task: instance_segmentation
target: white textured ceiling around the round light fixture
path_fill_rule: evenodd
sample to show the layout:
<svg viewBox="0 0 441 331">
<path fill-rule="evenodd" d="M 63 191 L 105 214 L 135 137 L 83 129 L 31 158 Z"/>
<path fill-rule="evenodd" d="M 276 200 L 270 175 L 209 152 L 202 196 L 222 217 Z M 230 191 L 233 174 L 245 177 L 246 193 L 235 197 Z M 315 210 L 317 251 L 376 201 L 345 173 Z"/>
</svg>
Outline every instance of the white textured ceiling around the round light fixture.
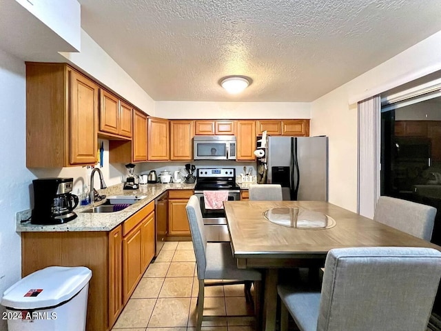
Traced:
<svg viewBox="0 0 441 331">
<path fill-rule="evenodd" d="M 313 101 L 441 30 L 438 0 L 79 0 L 156 101 Z M 253 83 L 227 94 L 222 77 Z"/>
</svg>

